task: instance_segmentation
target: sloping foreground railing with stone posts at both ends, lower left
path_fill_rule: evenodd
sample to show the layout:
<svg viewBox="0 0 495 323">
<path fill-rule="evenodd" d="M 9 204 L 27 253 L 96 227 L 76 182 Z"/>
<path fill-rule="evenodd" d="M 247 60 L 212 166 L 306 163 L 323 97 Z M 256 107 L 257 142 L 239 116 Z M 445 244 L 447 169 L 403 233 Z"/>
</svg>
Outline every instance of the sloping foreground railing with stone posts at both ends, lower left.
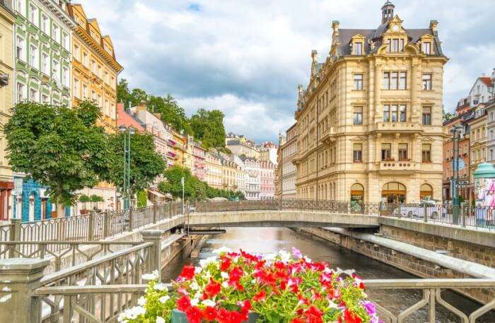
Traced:
<svg viewBox="0 0 495 323">
<path fill-rule="evenodd" d="M 164 232 L 144 230 L 141 234 L 143 240 L 137 243 L 98 242 L 102 250 L 127 246 L 100 252 L 98 257 L 87 254 L 88 261 L 50 274 L 45 274 L 50 259 L 0 259 L 0 323 L 116 322 L 118 313 L 135 304 L 144 292 L 140 288 L 146 282 L 143 274 L 157 271 L 161 276 Z M 43 251 L 44 247 L 38 254 Z"/>
</svg>

